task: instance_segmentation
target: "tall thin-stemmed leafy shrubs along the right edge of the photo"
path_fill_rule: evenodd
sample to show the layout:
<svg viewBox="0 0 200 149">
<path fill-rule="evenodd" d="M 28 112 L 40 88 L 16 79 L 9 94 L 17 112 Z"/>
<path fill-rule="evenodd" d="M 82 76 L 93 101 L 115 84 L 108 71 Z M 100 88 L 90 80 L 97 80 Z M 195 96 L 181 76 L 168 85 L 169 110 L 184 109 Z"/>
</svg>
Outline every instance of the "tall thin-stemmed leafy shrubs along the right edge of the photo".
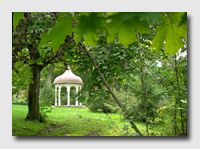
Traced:
<svg viewBox="0 0 200 149">
<path fill-rule="evenodd" d="M 185 50 L 176 55 L 163 54 L 166 61 L 158 70 L 168 95 L 167 104 L 158 110 L 159 116 L 168 119 L 171 133 L 176 135 L 187 135 L 187 57 L 182 56 Z"/>
</svg>

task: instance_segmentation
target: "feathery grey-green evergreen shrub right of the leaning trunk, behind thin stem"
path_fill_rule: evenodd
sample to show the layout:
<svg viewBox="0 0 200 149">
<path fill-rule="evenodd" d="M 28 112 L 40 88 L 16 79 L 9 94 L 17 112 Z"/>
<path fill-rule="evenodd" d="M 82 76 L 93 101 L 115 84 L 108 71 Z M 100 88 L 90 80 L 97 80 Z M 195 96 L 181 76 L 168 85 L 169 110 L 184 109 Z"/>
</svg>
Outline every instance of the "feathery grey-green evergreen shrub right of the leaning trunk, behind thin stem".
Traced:
<svg viewBox="0 0 200 149">
<path fill-rule="evenodd" d="M 158 85 L 154 84 L 150 80 L 151 77 L 149 75 L 147 76 L 145 78 L 148 79 L 145 79 L 146 83 L 144 87 L 147 100 L 147 117 L 148 119 L 152 119 L 154 121 L 154 119 L 158 116 L 156 110 L 159 108 L 159 103 L 164 100 L 165 93 L 162 88 L 159 88 Z M 143 91 L 141 90 L 141 87 L 139 87 L 141 86 L 141 83 L 135 81 L 133 86 L 134 87 L 130 88 L 137 98 L 137 101 L 128 108 L 130 115 L 132 115 L 136 121 L 145 121 L 144 102 L 142 100 Z"/>
</svg>

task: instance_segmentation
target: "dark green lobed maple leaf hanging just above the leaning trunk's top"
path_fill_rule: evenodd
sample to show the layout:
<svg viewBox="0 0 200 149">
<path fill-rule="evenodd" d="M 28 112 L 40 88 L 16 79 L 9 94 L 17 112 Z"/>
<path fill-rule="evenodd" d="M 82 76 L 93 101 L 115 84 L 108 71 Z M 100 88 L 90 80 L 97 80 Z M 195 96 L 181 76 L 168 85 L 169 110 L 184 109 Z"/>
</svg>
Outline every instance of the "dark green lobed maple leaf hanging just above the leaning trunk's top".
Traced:
<svg viewBox="0 0 200 149">
<path fill-rule="evenodd" d="M 78 24 L 75 27 L 75 42 L 78 43 L 83 36 L 86 44 L 95 47 L 96 41 L 99 39 L 97 30 L 103 30 L 105 22 L 106 18 L 98 17 L 97 13 L 79 16 Z"/>
</svg>

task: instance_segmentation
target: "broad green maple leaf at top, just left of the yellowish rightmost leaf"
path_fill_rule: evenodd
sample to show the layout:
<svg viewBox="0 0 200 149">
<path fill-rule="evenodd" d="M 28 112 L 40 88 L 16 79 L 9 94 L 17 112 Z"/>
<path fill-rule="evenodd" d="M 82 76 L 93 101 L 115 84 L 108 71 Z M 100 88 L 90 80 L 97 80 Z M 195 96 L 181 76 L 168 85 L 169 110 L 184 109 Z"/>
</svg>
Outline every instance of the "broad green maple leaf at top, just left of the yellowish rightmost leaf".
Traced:
<svg viewBox="0 0 200 149">
<path fill-rule="evenodd" d="M 149 24 L 146 21 L 140 21 L 138 15 L 129 18 L 124 13 L 117 13 L 110 19 L 112 22 L 106 26 L 108 43 L 113 41 L 119 33 L 119 42 L 128 47 L 129 44 L 137 41 L 136 30 L 141 34 L 150 32 Z"/>
</svg>

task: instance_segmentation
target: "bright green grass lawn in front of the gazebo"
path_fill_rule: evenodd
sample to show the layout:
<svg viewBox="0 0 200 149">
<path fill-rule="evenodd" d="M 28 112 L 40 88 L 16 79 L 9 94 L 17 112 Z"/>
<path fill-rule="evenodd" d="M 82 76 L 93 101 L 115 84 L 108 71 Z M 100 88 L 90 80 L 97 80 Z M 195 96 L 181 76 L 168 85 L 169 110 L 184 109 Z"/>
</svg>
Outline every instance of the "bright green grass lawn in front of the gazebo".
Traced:
<svg viewBox="0 0 200 149">
<path fill-rule="evenodd" d="M 25 121 L 28 107 L 12 105 L 13 136 L 126 136 L 136 135 L 118 114 L 93 113 L 89 109 L 53 108 L 46 123 Z M 145 123 L 136 123 L 145 135 Z M 161 135 L 165 124 L 149 125 L 151 134 Z"/>
</svg>

